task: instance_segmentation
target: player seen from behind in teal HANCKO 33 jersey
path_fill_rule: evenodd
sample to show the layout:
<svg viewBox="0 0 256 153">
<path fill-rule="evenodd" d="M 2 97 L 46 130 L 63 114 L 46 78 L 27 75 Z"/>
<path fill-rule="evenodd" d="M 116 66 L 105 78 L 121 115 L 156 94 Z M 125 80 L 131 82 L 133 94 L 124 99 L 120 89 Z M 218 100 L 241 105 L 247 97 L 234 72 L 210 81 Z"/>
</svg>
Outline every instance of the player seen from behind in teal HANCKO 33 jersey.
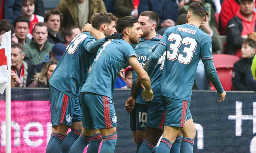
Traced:
<svg viewBox="0 0 256 153">
<path fill-rule="evenodd" d="M 198 28 L 204 21 L 205 10 L 203 3 L 193 2 L 188 9 L 188 24 L 168 28 L 149 58 L 147 72 L 150 76 L 158 59 L 166 51 L 160 91 L 165 110 L 164 134 L 156 153 L 169 153 L 180 130 L 187 134 L 183 137 L 187 143 L 183 143 L 180 151 L 193 152 L 195 126 L 192 118 L 186 119 L 200 58 L 208 78 L 221 97 L 219 102 L 226 96 L 213 65 L 212 40 Z M 185 123 L 188 128 L 183 128 Z"/>
</svg>

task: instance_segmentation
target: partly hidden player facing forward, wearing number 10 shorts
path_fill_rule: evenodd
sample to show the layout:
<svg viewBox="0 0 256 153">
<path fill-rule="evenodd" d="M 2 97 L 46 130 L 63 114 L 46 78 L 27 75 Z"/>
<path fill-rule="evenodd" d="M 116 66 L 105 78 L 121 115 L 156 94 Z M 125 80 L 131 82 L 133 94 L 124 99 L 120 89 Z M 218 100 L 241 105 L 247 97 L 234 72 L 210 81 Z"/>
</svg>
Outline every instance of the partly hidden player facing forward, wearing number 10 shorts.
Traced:
<svg viewBox="0 0 256 153">
<path fill-rule="evenodd" d="M 132 46 L 136 52 L 137 60 L 143 67 L 151 53 L 152 48 L 157 45 L 162 36 L 156 33 L 156 27 L 159 24 L 159 17 L 155 12 L 142 12 L 138 21 L 143 34 L 139 43 Z M 133 82 L 135 82 L 136 78 L 137 73 L 133 71 Z M 141 93 L 142 89 L 139 91 L 138 95 L 141 95 Z M 136 99 L 136 96 L 134 96 L 134 99 Z M 142 99 L 142 97 L 136 99 L 136 105 L 132 113 L 130 113 L 130 126 L 133 135 L 133 141 L 137 144 L 137 151 L 139 150 L 146 133 L 147 115 L 148 109 L 146 102 Z"/>
</svg>

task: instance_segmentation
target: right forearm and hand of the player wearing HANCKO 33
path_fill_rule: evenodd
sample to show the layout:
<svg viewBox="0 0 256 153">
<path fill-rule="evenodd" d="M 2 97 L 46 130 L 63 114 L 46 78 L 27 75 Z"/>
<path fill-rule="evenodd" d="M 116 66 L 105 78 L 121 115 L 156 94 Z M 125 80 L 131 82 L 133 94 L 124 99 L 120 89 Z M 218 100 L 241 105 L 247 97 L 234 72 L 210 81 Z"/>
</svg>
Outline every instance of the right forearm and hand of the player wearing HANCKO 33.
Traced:
<svg viewBox="0 0 256 153">
<path fill-rule="evenodd" d="M 202 62 L 204 63 L 204 70 L 206 72 L 207 77 L 209 78 L 209 80 L 219 93 L 219 96 L 221 97 L 219 102 L 223 101 L 226 97 L 226 92 L 224 91 L 222 85 L 220 84 L 220 79 L 214 67 L 213 60 L 202 60 Z"/>
</svg>

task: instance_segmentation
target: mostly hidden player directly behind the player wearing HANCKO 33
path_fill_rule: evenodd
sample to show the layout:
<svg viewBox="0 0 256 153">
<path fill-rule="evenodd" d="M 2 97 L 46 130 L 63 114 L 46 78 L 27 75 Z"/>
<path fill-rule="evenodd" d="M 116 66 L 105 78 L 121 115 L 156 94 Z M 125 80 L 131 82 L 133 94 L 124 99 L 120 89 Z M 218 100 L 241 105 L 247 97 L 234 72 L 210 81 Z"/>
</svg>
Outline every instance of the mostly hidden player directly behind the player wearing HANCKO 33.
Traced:
<svg viewBox="0 0 256 153">
<path fill-rule="evenodd" d="M 176 25 L 182 25 L 185 23 L 187 23 L 187 14 L 182 14 L 177 18 Z M 155 47 L 152 49 L 152 52 L 154 49 Z M 156 149 L 155 145 L 158 142 L 160 136 L 163 134 L 164 107 L 160 99 L 160 82 L 161 82 L 162 70 L 164 65 L 164 57 L 165 57 L 165 53 L 159 59 L 158 64 L 156 65 L 150 77 L 151 84 L 152 84 L 152 91 L 154 92 L 154 98 L 146 103 L 148 107 L 147 131 L 146 131 L 146 136 L 145 136 L 145 139 L 143 140 L 142 146 L 138 151 L 139 153 L 144 153 L 144 152 L 150 153 L 153 151 L 153 149 L 155 150 Z M 144 69 L 146 69 L 147 63 L 148 62 L 145 63 L 143 67 Z M 140 88 L 140 83 L 138 80 L 135 81 L 133 87 L 135 89 Z M 140 94 L 134 93 L 134 90 L 132 90 L 132 95 L 137 95 L 137 99 L 141 98 Z M 132 98 L 129 98 L 129 100 L 131 99 Z M 187 120 L 190 119 L 191 117 L 192 116 L 189 113 Z M 180 132 L 176 138 L 176 141 L 174 142 L 174 145 L 172 146 L 170 153 L 180 152 L 179 150 L 180 150 L 181 139 L 182 139 L 182 133 Z"/>
</svg>

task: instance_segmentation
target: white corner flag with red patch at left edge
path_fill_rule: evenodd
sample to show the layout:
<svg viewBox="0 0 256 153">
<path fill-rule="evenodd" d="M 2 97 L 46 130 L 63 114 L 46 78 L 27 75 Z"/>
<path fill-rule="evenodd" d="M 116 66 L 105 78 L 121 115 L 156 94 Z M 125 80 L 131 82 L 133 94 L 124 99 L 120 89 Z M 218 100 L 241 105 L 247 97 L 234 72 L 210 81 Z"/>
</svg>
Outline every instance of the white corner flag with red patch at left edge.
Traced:
<svg viewBox="0 0 256 153">
<path fill-rule="evenodd" d="M 7 66 L 12 65 L 11 58 L 11 31 L 4 33 L 0 46 L 0 93 L 3 94 L 9 83 Z"/>
</svg>

